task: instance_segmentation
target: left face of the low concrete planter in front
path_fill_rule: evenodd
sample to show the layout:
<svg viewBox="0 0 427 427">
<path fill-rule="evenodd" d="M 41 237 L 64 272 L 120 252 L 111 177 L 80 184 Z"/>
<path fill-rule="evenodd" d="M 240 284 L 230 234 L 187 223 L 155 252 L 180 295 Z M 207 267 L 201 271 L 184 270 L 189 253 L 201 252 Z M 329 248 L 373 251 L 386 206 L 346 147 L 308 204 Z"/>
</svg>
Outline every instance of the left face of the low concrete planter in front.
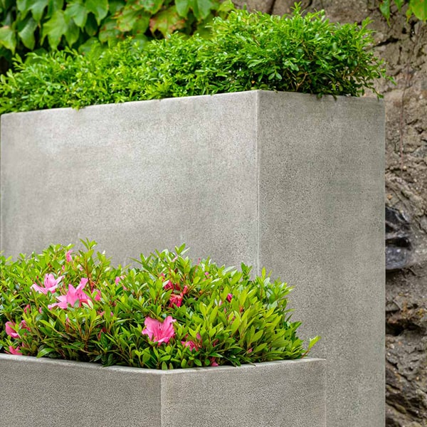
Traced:
<svg viewBox="0 0 427 427">
<path fill-rule="evenodd" d="M 162 427 L 161 381 L 139 369 L 0 354 L 0 424 Z"/>
</svg>

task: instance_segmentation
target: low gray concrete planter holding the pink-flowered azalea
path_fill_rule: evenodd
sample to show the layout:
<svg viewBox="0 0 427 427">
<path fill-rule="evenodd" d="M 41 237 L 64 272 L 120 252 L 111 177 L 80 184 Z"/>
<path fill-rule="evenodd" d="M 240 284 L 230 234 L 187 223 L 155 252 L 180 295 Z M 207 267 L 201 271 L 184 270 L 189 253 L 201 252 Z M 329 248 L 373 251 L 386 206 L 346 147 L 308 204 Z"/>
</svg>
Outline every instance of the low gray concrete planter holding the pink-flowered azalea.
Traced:
<svg viewBox="0 0 427 427">
<path fill-rule="evenodd" d="M 0 354 L 0 424 L 325 427 L 325 365 L 156 371 Z"/>
</svg>

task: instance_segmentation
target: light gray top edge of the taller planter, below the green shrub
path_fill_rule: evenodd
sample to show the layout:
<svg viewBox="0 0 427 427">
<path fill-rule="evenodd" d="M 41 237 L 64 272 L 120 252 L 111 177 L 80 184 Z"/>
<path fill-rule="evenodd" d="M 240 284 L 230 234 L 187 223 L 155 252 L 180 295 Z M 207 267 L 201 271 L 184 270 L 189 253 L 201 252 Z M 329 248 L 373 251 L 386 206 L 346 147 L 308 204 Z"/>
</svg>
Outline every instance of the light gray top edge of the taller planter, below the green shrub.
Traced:
<svg viewBox="0 0 427 427">
<path fill-rule="evenodd" d="M 311 98 L 312 100 L 317 100 L 319 102 L 331 102 L 331 101 L 343 101 L 343 102 L 375 102 L 375 103 L 383 103 L 382 99 L 379 99 L 377 97 L 347 97 L 344 95 L 339 96 L 333 96 L 333 95 L 323 95 L 322 97 L 318 98 L 315 94 L 310 93 L 297 93 L 297 92 L 278 92 L 275 90 L 248 90 L 248 91 L 242 91 L 242 92 L 231 92 L 231 93 L 217 93 L 215 95 L 194 95 L 194 96 L 188 96 L 188 97 L 169 97 L 169 98 L 163 98 L 160 100 L 143 100 L 143 101 L 129 101 L 129 102 L 117 102 L 116 104 L 97 104 L 97 105 L 89 105 L 88 107 L 83 107 L 80 110 L 75 110 L 71 107 L 60 107 L 60 108 L 51 108 L 48 110 L 32 110 L 32 111 L 24 111 L 24 112 L 8 112 L 3 115 L 1 115 L 0 119 L 1 122 L 4 122 L 5 120 L 8 120 L 8 117 L 16 117 L 16 115 L 28 115 L 28 114 L 46 114 L 46 112 L 58 112 L 58 111 L 73 111 L 75 113 L 78 113 L 80 111 L 90 111 L 90 110 L 96 110 L 99 108 L 111 108 L 113 105 L 116 105 L 117 107 L 120 107 L 122 105 L 141 105 L 142 103 L 145 103 L 145 105 L 149 105 L 148 103 L 151 102 L 159 103 L 159 102 L 194 102 L 195 100 L 206 100 L 206 98 L 209 97 L 241 97 L 241 96 L 254 96 L 254 100 L 256 99 L 256 96 L 258 94 L 263 95 L 275 95 L 275 96 L 282 96 L 282 97 L 295 97 L 295 98 Z"/>
</svg>

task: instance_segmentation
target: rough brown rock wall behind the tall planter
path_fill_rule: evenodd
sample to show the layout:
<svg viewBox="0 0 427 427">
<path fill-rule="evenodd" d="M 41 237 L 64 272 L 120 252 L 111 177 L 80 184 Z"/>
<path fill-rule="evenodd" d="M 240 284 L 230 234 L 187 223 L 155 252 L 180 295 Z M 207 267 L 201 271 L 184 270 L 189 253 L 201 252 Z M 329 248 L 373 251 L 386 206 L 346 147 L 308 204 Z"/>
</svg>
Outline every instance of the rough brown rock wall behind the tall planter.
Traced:
<svg viewBox="0 0 427 427">
<path fill-rule="evenodd" d="M 288 14 L 294 0 L 238 0 Z M 332 21 L 374 20 L 376 53 L 396 85 L 378 83 L 386 102 L 386 426 L 427 426 L 427 25 L 379 1 L 312 0 Z"/>
</svg>

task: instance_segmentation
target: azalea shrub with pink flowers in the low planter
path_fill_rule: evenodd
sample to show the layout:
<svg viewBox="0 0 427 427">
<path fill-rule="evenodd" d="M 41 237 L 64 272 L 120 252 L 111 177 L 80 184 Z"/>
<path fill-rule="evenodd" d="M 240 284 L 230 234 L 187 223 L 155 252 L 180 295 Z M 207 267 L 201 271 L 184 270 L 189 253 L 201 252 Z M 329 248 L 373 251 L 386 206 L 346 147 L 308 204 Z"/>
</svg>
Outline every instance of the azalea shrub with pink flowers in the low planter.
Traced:
<svg viewBox="0 0 427 427">
<path fill-rule="evenodd" d="M 184 246 L 113 267 L 105 253 L 50 246 L 0 257 L 0 352 L 152 369 L 304 357 L 291 288 L 265 270 L 196 263 Z"/>
</svg>

